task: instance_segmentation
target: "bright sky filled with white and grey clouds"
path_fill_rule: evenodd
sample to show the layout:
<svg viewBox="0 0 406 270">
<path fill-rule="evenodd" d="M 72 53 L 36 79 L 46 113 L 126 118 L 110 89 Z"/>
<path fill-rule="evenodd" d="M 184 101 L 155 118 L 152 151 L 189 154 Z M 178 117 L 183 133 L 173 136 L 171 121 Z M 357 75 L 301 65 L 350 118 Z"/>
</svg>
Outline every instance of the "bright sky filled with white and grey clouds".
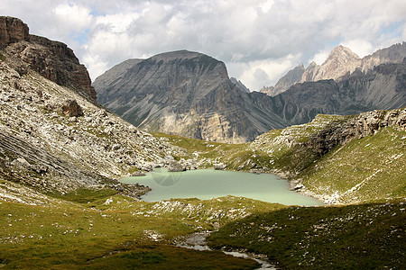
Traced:
<svg viewBox="0 0 406 270">
<path fill-rule="evenodd" d="M 339 44 L 363 57 L 406 40 L 405 0 L 2 0 L 0 15 L 68 44 L 93 80 L 127 58 L 189 49 L 251 90 Z"/>
</svg>

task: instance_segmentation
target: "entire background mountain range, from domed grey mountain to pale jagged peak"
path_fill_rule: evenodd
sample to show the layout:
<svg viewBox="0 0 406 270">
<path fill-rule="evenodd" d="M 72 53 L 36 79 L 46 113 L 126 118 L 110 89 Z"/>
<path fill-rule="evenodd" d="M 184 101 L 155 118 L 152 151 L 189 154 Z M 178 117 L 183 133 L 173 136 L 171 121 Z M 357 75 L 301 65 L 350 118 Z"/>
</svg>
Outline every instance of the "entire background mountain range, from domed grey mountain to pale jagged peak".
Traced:
<svg viewBox="0 0 406 270">
<path fill-rule="evenodd" d="M 187 50 L 127 60 L 93 85 L 100 103 L 143 130 L 238 143 L 318 113 L 405 106 L 404 56 L 405 42 L 363 59 L 338 46 L 323 65 L 288 72 L 274 96 L 250 93 L 223 62 Z"/>
</svg>

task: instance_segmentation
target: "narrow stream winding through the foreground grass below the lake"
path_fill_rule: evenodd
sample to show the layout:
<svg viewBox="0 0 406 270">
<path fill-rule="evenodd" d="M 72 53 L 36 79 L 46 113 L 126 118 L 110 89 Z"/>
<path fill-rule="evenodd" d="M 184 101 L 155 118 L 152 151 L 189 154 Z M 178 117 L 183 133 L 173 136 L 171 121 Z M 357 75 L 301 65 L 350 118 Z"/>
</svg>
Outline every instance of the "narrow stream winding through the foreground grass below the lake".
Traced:
<svg viewBox="0 0 406 270">
<path fill-rule="evenodd" d="M 200 231 L 190 234 L 187 238 L 181 238 L 175 241 L 176 247 L 186 247 L 196 250 L 211 250 L 206 243 L 206 238 L 210 234 L 210 231 Z M 223 251 L 226 255 L 231 255 L 234 257 L 245 257 L 256 261 L 261 265 L 258 269 L 277 269 L 275 266 L 271 265 L 266 261 L 265 256 L 254 255 L 250 253 L 243 253 L 238 251 Z"/>
</svg>

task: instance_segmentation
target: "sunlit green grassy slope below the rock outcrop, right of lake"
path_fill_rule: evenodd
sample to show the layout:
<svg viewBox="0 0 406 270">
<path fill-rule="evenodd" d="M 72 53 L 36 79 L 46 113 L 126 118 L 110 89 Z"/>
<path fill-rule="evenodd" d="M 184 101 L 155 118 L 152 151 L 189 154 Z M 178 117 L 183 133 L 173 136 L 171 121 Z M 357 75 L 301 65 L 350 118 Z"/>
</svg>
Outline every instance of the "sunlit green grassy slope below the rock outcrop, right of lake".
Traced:
<svg viewBox="0 0 406 270">
<path fill-rule="evenodd" d="M 341 202 L 405 197 L 405 138 L 405 131 L 384 128 L 374 136 L 353 139 L 328 152 L 298 178 L 311 192 L 336 193 Z"/>
</svg>

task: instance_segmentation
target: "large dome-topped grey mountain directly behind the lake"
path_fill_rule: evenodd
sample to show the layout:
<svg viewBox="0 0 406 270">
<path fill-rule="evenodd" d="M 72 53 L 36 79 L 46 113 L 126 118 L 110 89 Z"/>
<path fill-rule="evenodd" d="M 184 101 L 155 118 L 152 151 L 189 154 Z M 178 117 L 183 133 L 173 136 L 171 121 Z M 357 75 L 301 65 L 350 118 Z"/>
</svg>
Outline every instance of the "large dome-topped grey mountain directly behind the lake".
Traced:
<svg viewBox="0 0 406 270">
<path fill-rule="evenodd" d="M 235 143 L 286 124 L 230 81 L 223 62 L 197 52 L 127 61 L 93 85 L 100 103 L 148 131 Z"/>
</svg>

